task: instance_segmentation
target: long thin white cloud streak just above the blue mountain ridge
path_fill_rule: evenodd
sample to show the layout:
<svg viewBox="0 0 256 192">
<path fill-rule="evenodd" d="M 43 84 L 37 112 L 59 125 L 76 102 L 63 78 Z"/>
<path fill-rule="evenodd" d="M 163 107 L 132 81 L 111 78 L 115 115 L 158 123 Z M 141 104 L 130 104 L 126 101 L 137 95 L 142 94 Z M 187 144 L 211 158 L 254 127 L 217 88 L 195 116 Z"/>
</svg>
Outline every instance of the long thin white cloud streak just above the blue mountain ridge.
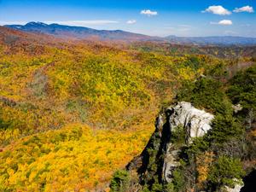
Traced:
<svg viewBox="0 0 256 192">
<path fill-rule="evenodd" d="M 47 20 L 44 23 L 52 24 L 57 23 L 60 25 L 67 25 L 67 26 L 91 26 L 91 25 L 108 25 L 108 24 L 115 24 L 119 23 L 116 20 Z"/>
</svg>

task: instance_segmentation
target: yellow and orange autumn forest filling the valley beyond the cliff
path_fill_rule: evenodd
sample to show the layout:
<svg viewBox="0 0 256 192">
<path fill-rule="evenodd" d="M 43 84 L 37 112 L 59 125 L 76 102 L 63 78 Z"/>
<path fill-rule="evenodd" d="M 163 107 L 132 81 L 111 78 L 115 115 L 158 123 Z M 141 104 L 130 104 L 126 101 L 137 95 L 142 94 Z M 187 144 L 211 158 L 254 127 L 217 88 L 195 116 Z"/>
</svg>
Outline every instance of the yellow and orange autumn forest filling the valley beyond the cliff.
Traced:
<svg viewBox="0 0 256 192">
<path fill-rule="evenodd" d="M 0 191 L 6 192 L 108 188 L 113 172 L 142 152 L 155 115 L 184 82 L 208 72 L 224 80 L 233 76 L 230 68 L 252 61 L 118 49 L 4 27 L 0 32 Z M 236 81 L 229 107 L 230 100 L 250 101 L 237 98 Z M 195 99 L 189 91 L 180 96 Z M 207 109 L 230 113 L 218 107 Z"/>
</svg>

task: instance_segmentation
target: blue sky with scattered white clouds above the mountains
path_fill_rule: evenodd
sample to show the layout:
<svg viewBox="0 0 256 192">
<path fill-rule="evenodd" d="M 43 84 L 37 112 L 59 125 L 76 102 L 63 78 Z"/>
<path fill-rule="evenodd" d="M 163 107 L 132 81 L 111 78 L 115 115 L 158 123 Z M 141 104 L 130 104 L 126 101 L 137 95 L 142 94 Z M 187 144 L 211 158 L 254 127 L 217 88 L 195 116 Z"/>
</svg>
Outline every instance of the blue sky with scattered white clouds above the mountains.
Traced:
<svg viewBox="0 0 256 192">
<path fill-rule="evenodd" d="M 255 0 L 0 0 L 0 25 L 55 22 L 155 36 L 256 38 Z"/>
</svg>

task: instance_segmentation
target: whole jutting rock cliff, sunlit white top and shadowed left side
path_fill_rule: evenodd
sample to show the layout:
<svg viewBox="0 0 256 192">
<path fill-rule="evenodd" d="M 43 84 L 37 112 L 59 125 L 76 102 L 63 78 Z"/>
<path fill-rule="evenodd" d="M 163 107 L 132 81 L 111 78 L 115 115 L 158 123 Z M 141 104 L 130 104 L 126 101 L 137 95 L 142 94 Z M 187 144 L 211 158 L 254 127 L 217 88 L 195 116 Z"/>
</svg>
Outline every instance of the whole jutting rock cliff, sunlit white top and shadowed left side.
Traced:
<svg viewBox="0 0 256 192">
<path fill-rule="evenodd" d="M 202 137 L 211 130 L 214 116 L 192 106 L 189 102 L 177 102 L 166 108 L 155 121 L 155 131 L 143 153 L 127 166 L 128 170 L 137 169 L 143 183 L 153 181 L 172 182 L 172 172 L 179 166 L 180 148 L 172 143 L 173 131 L 182 127 L 185 143 L 192 138 Z"/>
</svg>

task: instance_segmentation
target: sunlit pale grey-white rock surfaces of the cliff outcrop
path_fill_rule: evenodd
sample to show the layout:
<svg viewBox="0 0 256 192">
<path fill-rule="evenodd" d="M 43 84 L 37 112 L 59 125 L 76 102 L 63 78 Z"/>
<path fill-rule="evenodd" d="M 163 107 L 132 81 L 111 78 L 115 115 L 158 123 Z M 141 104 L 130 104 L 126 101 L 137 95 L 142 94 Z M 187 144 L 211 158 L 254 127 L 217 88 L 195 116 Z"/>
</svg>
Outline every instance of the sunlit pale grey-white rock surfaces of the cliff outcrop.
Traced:
<svg viewBox="0 0 256 192">
<path fill-rule="evenodd" d="M 192 138 L 202 137 L 211 130 L 211 122 L 214 116 L 203 110 L 194 108 L 189 102 L 178 102 L 177 105 L 167 108 L 170 112 L 168 117 L 170 131 L 175 131 L 177 126 L 182 126 L 186 132 L 186 142 L 191 143 Z M 171 136 L 172 137 L 172 136 Z M 166 155 L 163 164 L 163 180 L 167 183 L 172 181 L 172 172 L 179 166 L 178 152 L 173 143 L 166 143 Z"/>
</svg>

